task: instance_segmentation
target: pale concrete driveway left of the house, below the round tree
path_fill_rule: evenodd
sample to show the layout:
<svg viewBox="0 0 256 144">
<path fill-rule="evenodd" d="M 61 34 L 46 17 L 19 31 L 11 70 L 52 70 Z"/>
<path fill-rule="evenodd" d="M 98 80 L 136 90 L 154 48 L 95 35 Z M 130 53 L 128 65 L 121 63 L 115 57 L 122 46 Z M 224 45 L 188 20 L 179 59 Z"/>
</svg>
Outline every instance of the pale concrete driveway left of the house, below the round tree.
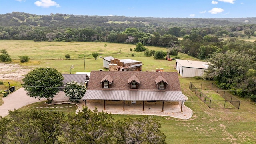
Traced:
<svg viewBox="0 0 256 144">
<path fill-rule="evenodd" d="M 14 110 L 21 108 L 22 106 L 26 106 L 28 104 L 32 104 L 35 102 L 46 101 L 46 99 L 41 98 L 31 98 L 27 95 L 26 91 L 23 88 L 19 88 L 18 90 L 8 94 L 8 96 L 3 98 L 4 104 L 0 106 L 0 116 L 7 116 L 9 110 Z"/>
</svg>

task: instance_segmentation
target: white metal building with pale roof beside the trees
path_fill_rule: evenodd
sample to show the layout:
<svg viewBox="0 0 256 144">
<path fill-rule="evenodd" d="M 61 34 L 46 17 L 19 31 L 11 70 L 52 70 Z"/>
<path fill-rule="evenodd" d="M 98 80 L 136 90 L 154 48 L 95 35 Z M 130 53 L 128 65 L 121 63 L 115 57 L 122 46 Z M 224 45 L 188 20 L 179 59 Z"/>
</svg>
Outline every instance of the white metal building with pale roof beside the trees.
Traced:
<svg viewBox="0 0 256 144">
<path fill-rule="evenodd" d="M 202 76 L 208 68 L 207 62 L 176 59 L 175 69 L 182 77 Z"/>
</svg>

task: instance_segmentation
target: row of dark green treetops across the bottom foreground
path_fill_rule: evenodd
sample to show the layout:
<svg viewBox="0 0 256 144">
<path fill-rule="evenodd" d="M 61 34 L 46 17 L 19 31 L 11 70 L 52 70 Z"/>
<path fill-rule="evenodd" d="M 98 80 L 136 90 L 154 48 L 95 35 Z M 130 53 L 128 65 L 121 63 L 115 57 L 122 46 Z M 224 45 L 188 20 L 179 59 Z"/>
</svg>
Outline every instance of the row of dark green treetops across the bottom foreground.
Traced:
<svg viewBox="0 0 256 144">
<path fill-rule="evenodd" d="M 52 110 L 14 110 L 0 117 L 2 144 L 166 144 L 155 118 L 115 121 L 111 114 L 82 108 L 64 115 Z"/>
</svg>

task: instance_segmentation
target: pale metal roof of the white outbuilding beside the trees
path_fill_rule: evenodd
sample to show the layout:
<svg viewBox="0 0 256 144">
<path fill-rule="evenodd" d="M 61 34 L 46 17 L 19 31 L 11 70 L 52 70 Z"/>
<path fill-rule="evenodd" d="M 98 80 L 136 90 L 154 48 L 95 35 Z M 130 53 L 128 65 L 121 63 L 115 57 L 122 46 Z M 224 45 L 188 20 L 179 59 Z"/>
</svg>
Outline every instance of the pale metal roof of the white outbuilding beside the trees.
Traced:
<svg viewBox="0 0 256 144">
<path fill-rule="evenodd" d="M 176 59 L 176 62 L 178 62 L 182 67 L 187 67 L 187 68 L 207 69 L 208 67 L 207 62 L 202 62 L 202 61 Z"/>
</svg>

